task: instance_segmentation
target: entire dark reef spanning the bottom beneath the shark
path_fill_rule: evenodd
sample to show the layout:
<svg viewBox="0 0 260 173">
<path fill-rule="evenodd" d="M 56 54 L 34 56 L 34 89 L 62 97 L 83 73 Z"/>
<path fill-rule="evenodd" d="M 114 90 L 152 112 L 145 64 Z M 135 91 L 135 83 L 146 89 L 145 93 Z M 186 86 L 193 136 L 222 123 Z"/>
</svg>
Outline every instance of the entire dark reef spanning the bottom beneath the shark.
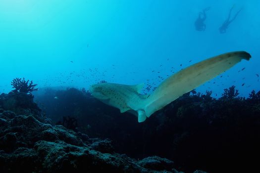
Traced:
<svg viewBox="0 0 260 173">
<path fill-rule="evenodd" d="M 35 98 L 0 95 L 0 172 L 258 169 L 260 92 L 239 97 L 232 86 L 215 99 L 211 91 L 191 91 L 145 123 L 98 101 L 86 89 L 37 92 Z"/>
</svg>

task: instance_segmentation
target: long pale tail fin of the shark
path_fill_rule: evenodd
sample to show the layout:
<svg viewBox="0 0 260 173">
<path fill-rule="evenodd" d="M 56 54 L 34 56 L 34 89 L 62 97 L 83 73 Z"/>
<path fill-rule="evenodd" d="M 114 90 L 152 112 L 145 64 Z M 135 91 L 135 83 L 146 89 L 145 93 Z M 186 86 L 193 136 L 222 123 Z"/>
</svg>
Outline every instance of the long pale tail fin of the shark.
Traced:
<svg viewBox="0 0 260 173">
<path fill-rule="evenodd" d="M 208 58 L 170 76 L 145 99 L 144 111 L 146 116 L 150 117 L 157 110 L 184 93 L 225 72 L 242 59 L 249 60 L 250 58 L 251 55 L 245 51 L 229 52 Z"/>
</svg>

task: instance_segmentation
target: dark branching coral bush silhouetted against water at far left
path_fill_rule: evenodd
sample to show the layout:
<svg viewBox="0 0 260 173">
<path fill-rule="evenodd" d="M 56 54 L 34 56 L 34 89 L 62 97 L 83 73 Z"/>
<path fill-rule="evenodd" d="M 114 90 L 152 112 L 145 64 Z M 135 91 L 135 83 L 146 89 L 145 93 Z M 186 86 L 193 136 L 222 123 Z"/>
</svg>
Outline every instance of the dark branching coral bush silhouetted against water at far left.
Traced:
<svg viewBox="0 0 260 173">
<path fill-rule="evenodd" d="M 33 81 L 29 83 L 29 80 L 25 81 L 25 79 L 21 78 L 15 78 L 12 80 L 11 85 L 13 86 L 14 90 L 12 90 L 15 93 L 26 93 L 31 94 L 32 91 L 38 90 L 38 88 L 35 88 L 37 84 L 33 84 Z"/>
</svg>

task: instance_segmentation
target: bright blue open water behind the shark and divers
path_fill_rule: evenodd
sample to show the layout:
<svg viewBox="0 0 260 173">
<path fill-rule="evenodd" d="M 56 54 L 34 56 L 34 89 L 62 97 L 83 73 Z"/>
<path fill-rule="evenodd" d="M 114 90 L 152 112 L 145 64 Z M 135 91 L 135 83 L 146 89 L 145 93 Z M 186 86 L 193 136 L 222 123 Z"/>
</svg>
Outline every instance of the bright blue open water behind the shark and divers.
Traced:
<svg viewBox="0 0 260 173">
<path fill-rule="evenodd" d="M 220 34 L 232 6 L 232 15 L 243 9 Z M 206 7 L 207 28 L 199 32 L 194 22 Z M 260 89 L 259 9 L 260 0 L 0 0 L 0 93 L 16 77 L 38 87 L 101 80 L 156 87 L 193 63 L 245 50 L 250 61 L 196 90 L 218 97 L 235 85 L 247 97 Z"/>
</svg>

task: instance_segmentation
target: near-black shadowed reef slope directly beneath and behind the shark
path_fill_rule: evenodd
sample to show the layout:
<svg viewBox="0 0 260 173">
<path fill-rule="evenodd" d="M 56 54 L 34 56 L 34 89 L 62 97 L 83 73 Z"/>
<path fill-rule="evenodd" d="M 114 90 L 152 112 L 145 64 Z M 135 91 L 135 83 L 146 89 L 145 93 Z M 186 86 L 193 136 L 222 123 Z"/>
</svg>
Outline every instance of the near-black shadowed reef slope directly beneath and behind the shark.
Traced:
<svg viewBox="0 0 260 173">
<path fill-rule="evenodd" d="M 212 98 L 211 93 L 184 94 L 145 123 L 137 123 L 135 116 L 121 114 L 77 89 L 57 91 L 60 100 L 47 96 L 40 100 L 43 104 L 53 100 L 47 115 L 56 115 L 56 120 L 73 116 L 78 131 L 92 138 L 109 138 L 113 149 L 105 142 L 107 152 L 136 159 L 156 155 L 173 160 L 176 169 L 187 173 L 257 169 L 260 92 L 252 91 L 247 99 L 237 97 L 234 86 L 225 89 L 220 99 Z"/>
</svg>

